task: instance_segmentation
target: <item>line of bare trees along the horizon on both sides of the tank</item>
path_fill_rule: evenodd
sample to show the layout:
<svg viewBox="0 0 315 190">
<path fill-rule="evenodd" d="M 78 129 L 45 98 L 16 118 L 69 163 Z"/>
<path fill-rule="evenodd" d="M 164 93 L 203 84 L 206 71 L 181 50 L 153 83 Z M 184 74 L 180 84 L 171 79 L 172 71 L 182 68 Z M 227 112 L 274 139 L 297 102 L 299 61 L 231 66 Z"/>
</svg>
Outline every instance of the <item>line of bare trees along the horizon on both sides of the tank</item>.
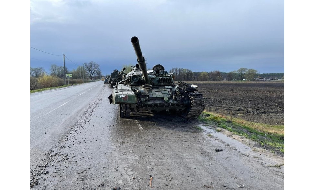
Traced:
<svg viewBox="0 0 315 190">
<path fill-rule="evenodd" d="M 125 73 L 130 72 L 132 66 L 123 65 L 126 68 Z M 78 66 L 77 69 L 69 71 L 67 67 L 57 66 L 52 64 L 49 68 L 50 75 L 64 79 L 64 73 L 72 73 L 72 79 L 87 79 L 90 80 L 100 79 L 103 74 L 100 71 L 100 66 L 96 62 L 84 62 L 83 66 Z M 45 70 L 40 68 L 31 68 L 31 77 L 40 77 L 43 74 L 47 74 Z M 257 77 L 264 78 L 284 78 L 284 73 L 258 73 L 255 69 L 250 68 L 239 68 L 238 70 L 231 71 L 229 73 L 220 72 L 218 70 L 211 72 L 192 72 L 190 69 L 186 68 L 171 68 L 169 73 L 173 73 L 175 81 L 237 81 L 246 79 L 248 81 L 254 81 Z M 109 77 L 109 76 L 106 76 Z"/>
</svg>

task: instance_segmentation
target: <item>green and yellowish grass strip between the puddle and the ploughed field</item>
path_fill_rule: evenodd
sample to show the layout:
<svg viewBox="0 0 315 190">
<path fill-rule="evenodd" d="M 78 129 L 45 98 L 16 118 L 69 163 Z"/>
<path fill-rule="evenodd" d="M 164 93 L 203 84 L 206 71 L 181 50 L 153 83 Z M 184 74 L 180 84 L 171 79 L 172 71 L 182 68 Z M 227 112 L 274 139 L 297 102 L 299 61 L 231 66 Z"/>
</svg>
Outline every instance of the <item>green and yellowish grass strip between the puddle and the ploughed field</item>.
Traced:
<svg viewBox="0 0 315 190">
<path fill-rule="evenodd" d="M 259 143 L 265 149 L 284 155 L 284 125 L 248 122 L 206 111 L 199 116 L 199 121 L 224 128 Z"/>
</svg>

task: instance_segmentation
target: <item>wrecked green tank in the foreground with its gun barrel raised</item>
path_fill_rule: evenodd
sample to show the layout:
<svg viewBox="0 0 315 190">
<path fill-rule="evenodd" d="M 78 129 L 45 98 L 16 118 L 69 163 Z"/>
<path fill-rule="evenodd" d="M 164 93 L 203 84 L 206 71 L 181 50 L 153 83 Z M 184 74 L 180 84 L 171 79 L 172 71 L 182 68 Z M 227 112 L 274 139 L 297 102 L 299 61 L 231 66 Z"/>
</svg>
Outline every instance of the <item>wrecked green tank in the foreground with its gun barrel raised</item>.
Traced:
<svg viewBox="0 0 315 190">
<path fill-rule="evenodd" d="M 198 86 L 182 81 L 174 82 L 173 73 L 160 64 L 147 70 L 139 39 L 131 38 L 138 64 L 114 86 L 108 97 L 119 105 L 119 117 L 130 117 L 130 112 L 167 111 L 187 119 L 196 119 L 204 109 L 203 95 Z"/>
</svg>

